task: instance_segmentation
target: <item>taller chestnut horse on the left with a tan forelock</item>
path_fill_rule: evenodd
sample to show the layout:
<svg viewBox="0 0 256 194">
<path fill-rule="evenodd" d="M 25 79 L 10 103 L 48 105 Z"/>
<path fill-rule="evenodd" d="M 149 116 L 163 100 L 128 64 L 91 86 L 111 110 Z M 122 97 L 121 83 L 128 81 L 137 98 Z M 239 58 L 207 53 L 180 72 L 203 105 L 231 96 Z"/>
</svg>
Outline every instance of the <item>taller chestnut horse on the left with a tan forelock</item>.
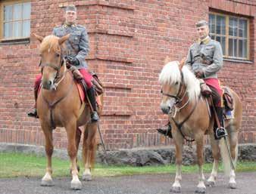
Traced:
<svg viewBox="0 0 256 194">
<path fill-rule="evenodd" d="M 47 168 L 42 177 L 42 186 L 52 186 L 52 128 L 64 127 L 67 132 L 67 152 L 70 156 L 70 173 L 72 174 L 71 189 L 81 189 L 78 178 L 77 150 L 81 131 L 78 127 L 84 125 L 83 162 L 85 171 L 83 180 L 91 180 L 91 168 L 95 158 L 97 122 L 90 122 L 90 108 L 83 109 L 80 94 L 72 73 L 67 70 L 64 59 L 64 42 L 69 35 L 58 38 L 48 35 L 42 38 L 35 35 L 41 42 L 42 88 L 36 102 L 40 124 L 45 134 L 45 152 Z M 102 96 L 100 97 L 103 103 Z M 101 107 L 102 108 L 102 107 Z M 101 112 L 101 109 L 99 110 Z M 54 126 L 54 127 L 53 127 Z"/>
</svg>

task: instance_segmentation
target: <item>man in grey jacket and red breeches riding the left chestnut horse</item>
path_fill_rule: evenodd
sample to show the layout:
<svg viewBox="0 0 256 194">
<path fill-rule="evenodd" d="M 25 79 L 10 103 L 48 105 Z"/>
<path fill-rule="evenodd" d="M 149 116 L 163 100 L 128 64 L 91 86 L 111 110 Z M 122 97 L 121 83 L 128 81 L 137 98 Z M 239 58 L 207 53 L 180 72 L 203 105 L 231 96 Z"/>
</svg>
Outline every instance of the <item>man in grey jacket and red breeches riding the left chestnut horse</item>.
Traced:
<svg viewBox="0 0 256 194">
<path fill-rule="evenodd" d="M 57 26 L 53 29 L 52 34 L 58 37 L 70 34 L 66 43 L 66 56 L 67 63 L 71 66 L 75 66 L 83 76 L 83 80 L 86 82 L 86 92 L 89 97 L 89 101 L 92 104 L 92 122 L 98 121 L 98 113 L 96 112 L 95 91 L 92 87 L 92 75 L 88 72 L 88 66 L 85 57 L 89 53 L 89 38 L 86 32 L 86 28 L 76 24 L 76 7 L 74 5 L 68 5 L 65 11 L 65 23 L 62 26 Z M 37 92 L 41 83 L 42 75 L 36 76 L 36 82 L 34 87 L 35 98 L 37 99 Z M 33 112 L 28 113 L 29 116 L 37 118 L 36 109 Z"/>
</svg>

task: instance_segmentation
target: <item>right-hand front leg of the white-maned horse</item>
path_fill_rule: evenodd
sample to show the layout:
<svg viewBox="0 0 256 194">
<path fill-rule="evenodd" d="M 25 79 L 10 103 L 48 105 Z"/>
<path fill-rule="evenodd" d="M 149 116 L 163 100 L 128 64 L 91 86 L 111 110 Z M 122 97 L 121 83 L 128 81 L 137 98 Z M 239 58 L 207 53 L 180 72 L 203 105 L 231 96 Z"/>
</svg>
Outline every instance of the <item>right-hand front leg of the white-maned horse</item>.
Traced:
<svg viewBox="0 0 256 194">
<path fill-rule="evenodd" d="M 198 168 L 199 168 L 199 183 L 195 190 L 196 193 L 205 193 L 206 187 L 204 185 L 204 174 L 203 174 L 203 163 L 204 163 L 204 136 L 203 134 L 198 134 L 198 138 L 196 138 L 196 152 L 198 156 Z"/>
</svg>

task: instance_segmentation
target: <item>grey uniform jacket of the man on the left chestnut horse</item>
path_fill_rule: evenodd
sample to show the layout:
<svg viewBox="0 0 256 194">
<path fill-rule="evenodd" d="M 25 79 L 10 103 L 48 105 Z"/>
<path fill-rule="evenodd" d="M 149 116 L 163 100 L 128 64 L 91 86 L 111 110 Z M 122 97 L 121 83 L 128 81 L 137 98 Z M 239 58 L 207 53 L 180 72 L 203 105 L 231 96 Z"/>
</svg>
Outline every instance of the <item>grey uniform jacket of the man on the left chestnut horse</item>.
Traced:
<svg viewBox="0 0 256 194">
<path fill-rule="evenodd" d="M 55 27 L 52 34 L 58 37 L 70 34 L 70 37 L 65 42 L 67 50 L 65 55 L 76 57 L 79 60 L 80 64 L 76 66 L 77 69 L 88 67 L 85 58 L 89 53 L 89 38 L 85 27 L 76 24 L 71 26 L 64 24 Z"/>
</svg>

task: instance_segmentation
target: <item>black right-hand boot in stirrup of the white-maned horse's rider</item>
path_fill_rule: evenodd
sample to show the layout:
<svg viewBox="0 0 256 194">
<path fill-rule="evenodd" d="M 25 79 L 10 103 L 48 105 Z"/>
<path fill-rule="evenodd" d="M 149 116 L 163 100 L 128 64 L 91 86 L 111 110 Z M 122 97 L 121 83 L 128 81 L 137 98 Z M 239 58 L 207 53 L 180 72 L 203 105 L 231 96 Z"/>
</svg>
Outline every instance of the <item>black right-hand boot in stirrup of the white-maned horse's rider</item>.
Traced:
<svg viewBox="0 0 256 194">
<path fill-rule="evenodd" d="M 220 128 L 217 127 L 216 121 L 214 122 L 214 137 L 215 140 L 220 140 L 221 137 L 225 137 L 226 134 L 226 129 L 223 127 L 223 108 L 222 107 L 215 107 L 216 113 L 218 116 L 218 119 L 220 121 Z"/>
</svg>

